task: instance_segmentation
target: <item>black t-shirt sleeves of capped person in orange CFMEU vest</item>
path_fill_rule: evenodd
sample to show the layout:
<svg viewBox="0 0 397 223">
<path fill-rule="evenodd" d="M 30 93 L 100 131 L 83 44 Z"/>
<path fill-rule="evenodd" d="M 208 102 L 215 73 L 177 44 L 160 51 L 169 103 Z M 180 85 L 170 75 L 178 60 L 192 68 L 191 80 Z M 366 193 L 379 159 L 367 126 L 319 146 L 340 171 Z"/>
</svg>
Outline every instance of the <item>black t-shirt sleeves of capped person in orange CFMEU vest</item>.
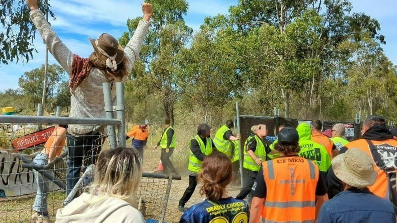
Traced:
<svg viewBox="0 0 397 223">
<path fill-rule="evenodd" d="M 319 174 L 317 186 L 316 186 L 316 195 L 322 196 L 327 192 L 328 192 L 328 188 L 326 186 L 326 183 L 323 177 L 321 176 L 321 174 Z M 266 198 L 266 183 L 265 183 L 265 178 L 263 176 L 262 166 L 260 167 L 258 175 L 256 175 L 254 185 L 252 186 L 251 194 L 252 196 L 256 196 L 258 198 Z"/>
</svg>

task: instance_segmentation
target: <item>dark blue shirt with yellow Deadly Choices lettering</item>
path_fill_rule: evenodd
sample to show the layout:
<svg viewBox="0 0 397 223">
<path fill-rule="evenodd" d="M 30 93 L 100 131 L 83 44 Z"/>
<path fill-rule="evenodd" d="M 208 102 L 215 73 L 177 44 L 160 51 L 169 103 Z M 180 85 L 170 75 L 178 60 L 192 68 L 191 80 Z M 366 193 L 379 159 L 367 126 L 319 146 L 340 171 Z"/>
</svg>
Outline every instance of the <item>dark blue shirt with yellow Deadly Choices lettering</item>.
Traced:
<svg viewBox="0 0 397 223">
<path fill-rule="evenodd" d="M 247 202 L 232 197 L 205 200 L 183 213 L 179 223 L 248 223 Z"/>
</svg>

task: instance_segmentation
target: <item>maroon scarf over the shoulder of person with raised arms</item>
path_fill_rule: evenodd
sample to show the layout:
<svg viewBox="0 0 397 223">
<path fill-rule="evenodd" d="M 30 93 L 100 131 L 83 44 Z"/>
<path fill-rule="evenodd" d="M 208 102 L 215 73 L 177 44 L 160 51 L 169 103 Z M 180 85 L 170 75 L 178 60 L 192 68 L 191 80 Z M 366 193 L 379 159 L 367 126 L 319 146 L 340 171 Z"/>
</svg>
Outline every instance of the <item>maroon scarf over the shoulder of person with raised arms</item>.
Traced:
<svg viewBox="0 0 397 223">
<path fill-rule="evenodd" d="M 72 89 L 72 94 L 74 90 L 87 78 L 91 72 L 93 64 L 88 58 L 81 58 L 76 54 L 73 54 L 72 71 L 70 74 L 69 88 Z"/>
</svg>

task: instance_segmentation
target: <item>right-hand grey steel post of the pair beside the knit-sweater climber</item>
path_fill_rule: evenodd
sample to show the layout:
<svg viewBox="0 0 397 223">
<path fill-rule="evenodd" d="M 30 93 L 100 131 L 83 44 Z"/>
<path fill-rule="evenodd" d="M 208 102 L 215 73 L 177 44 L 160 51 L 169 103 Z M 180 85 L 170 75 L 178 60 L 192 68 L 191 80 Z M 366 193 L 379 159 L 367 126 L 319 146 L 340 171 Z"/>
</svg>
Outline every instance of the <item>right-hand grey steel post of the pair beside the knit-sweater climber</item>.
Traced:
<svg viewBox="0 0 397 223">
<path fill-rule="evenodd" d="M 119 145 L 125 146 L 125 107 L 124 107 L 124 83 L 116 83 L 116 97 L 117 97 L 117 119 L 121 121 L 118 126 L 118 141 Z"/>
</svg>

